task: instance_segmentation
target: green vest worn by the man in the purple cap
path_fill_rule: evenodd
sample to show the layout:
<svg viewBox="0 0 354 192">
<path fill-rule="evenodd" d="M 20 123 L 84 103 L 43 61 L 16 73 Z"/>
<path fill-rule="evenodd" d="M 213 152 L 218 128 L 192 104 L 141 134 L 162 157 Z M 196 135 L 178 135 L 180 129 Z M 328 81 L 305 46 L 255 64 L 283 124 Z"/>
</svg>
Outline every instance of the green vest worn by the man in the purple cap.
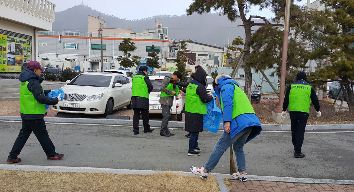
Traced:
<svg viewBox="0 0 354 192">
<path fill-rule="evenodd" d="M 45 114 L 45 104 L 39 103 L 28 90 L 28 81 L 20 83 L 20 107 L 23 114 Z M 41 85 L 42 87 L 42 85 Z M 43 87 L 42 87 L 43 89 Z M 43 90 L 44 93 L 44 90 Z"/>
</svg>

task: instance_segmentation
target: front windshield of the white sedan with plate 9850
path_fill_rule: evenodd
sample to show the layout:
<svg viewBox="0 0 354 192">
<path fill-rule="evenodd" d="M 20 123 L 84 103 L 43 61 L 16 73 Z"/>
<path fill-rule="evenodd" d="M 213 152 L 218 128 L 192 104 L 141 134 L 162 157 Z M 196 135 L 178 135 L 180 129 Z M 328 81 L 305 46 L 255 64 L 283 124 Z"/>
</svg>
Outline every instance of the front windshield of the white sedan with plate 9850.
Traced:
<svg viewBox="0 0 354 192">
<path fill-rule="evenodd" d="M 79 75 L 72 80 L 68 85 L 80 85 L 91 87 L 109 87 L 111 76 L 104 75 Z"/>
</svg>

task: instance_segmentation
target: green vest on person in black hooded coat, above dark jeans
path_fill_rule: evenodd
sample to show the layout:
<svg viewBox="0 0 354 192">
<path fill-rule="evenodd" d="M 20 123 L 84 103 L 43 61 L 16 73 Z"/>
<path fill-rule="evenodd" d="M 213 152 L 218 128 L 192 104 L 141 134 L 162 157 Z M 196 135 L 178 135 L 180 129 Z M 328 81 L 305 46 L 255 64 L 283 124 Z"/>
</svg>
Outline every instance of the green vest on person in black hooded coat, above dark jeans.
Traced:
<svg viewBox="0 0 354 192">
<path fill-rule="evenodd" d="M 189 83 L 185 95 L 185 111 L 190 113 L 206 114 L 206 103 L 203 103 L 197 94 L 197 87 L 193 83 Z"/>
</svg>

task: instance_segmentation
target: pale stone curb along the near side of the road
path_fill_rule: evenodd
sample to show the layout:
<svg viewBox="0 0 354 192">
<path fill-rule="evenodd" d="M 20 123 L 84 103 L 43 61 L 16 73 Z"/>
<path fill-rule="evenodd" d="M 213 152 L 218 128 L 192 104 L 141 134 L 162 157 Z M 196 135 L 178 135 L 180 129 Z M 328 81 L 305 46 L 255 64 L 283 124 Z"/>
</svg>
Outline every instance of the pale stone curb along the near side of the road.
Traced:
<svg viewBox="0 0 354 192">
<path fill-rule="evenodd" d="M 64 167 L 64 166 L 37 166 L 37 165 L 12 165 L 0 164 L 0 169 L 6 170 L 22 170 L 22 171 L 54 171 L 54 172 L 102 172 L 113 174 L 156 174 L 172 172 L 182 175 L 194 176 L 191 172 L 184 171 L 152 171 L 152 170 L 138 170 L 138 169 L 111 169 L 111 168 L 98 168 L 98 167 Z M 232 175 L 222 173 L 212 173 L 217 178 L 221 191 L 228 191 L 223 181 L 223 178 L 234 179 Z M 291 178 L 279 176 L 260 176 L 260 175 L 247 175 L 249 180 L 261 181 L 279 181 L 279 182 L 297 182 L 297 183 L 310 183 L 310 184 L 342 184 L 354 185 L 353 180 L 334 180 L 334 179 L 309 179 L 309 178 Z"/>
</svg>

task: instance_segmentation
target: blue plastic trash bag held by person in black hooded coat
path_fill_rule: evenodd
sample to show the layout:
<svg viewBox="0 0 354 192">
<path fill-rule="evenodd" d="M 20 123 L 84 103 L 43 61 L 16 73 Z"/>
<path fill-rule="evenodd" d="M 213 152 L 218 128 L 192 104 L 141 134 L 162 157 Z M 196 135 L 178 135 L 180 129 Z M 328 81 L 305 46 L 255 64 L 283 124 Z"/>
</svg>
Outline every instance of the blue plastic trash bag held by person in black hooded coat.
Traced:
<svg viewBox="0 0 354 192">
<path fill-rule="evenodd" d="M 222 113 L 216 106 L 215 98 L 206 104 L 206 111 L 207 114 L 203 114 L 203 128 L 210 132 L 217 133 L 221 123 Z"/>
</svg>

